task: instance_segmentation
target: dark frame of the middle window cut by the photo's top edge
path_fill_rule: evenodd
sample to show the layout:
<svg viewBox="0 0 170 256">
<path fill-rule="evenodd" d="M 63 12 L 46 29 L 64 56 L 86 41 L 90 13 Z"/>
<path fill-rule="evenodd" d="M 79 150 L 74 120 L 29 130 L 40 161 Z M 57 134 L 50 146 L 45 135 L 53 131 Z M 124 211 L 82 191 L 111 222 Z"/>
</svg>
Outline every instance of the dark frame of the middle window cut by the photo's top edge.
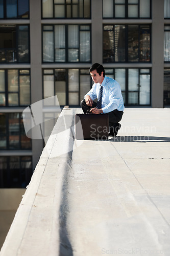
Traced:
<svg viewBox="0 0 170 256">
<path fill-rule="evenodd" d="M 70 2 L 71 2 L 70 4 L 67 4 L 66 0 L 65 0 L 65 3 L 63 3 L 63 4 L 56 4 L 56 3 L 54 3 L 54 0 L 53 0 L 53 16 L 43 17 L 43 2 L 42 1 L 43 0 L 41 0 L 41 19 L 91 19 L 91 1 L 92 0 L 89 0 L 89 17 L 87 17 L 87 18 L 84 17 L 84 0 L 83 0 L 83 17 L 72 17 L 72 6 L 76 5 L 76 4 L 72 3 L 72 0 L 70 0 Z M 64 17 L 55 17 L 55 6 L 56 5 L 64 5 Z M 67 16 L 67 8 L 66 8 L 67 5 L 71 6 L 71 17 L 66 17 Z M 79 9 L 78 9 L 78 13 L 79 13 Z"/>
</svg>

